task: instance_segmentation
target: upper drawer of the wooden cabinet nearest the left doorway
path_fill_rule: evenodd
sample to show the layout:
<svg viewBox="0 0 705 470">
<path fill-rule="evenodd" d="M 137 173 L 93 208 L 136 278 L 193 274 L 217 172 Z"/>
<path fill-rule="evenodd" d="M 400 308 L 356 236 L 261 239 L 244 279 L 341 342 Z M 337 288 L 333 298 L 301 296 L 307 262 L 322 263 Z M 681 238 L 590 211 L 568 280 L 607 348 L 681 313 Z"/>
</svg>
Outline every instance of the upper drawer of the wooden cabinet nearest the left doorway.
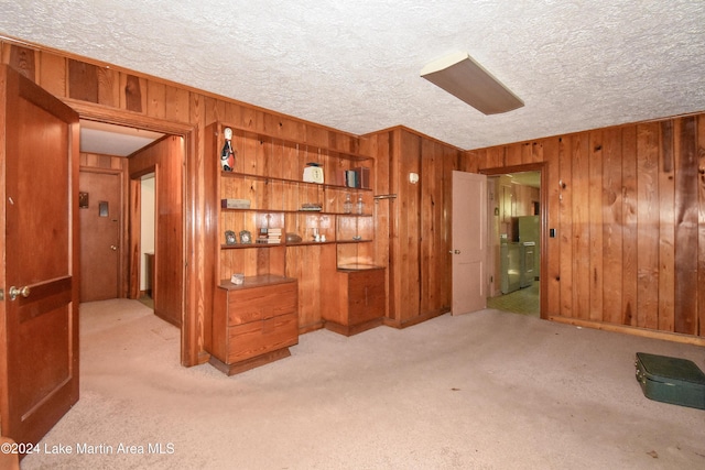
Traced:
<svg viewBox="0 0 705 470">
<path fill-rule="evenodd" d="M 296 283 L 231 291 L 228 295 L 228 326 L 296 311 Z"/>
</svg>

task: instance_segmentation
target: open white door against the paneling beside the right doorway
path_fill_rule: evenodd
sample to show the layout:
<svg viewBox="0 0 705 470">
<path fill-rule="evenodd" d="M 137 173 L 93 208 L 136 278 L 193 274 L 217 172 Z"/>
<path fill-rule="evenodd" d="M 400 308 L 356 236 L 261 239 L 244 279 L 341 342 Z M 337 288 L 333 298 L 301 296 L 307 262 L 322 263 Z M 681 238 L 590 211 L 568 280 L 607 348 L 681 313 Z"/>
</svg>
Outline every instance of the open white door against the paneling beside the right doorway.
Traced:
<svg viewBox="0 0 705 470">
<path fill-rule="evenodd" d="M 453 315 L 487 306 L 487 176 L 453 172 Z"/>
</svg>

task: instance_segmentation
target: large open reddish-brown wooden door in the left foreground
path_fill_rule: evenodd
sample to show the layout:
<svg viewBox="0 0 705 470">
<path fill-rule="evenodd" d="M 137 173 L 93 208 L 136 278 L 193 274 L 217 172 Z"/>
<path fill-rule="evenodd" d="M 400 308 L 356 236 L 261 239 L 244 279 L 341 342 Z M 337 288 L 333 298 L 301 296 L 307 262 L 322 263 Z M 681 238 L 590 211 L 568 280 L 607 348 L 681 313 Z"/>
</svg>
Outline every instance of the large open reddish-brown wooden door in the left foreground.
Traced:
<svg viewBox="0 0 705 470">
<path fill-rule="evenodd" d="M 78 116 L 0 66 L 0 418 L 37 442 L 78 401 Z"/>
</svg>

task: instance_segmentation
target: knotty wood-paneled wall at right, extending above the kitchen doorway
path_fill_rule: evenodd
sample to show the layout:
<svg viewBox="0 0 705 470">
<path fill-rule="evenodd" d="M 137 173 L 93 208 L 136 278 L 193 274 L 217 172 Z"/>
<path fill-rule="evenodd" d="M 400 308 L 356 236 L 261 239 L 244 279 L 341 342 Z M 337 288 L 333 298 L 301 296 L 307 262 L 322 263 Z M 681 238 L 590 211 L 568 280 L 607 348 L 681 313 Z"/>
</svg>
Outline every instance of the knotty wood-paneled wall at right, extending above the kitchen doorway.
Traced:
<svg viewBox="0 0 705 470">
<path fill-rule="evenodd" d="M 705 337 L 705 114 L 467 155 L 545 162 L 547 317 Z"/>
</svg>

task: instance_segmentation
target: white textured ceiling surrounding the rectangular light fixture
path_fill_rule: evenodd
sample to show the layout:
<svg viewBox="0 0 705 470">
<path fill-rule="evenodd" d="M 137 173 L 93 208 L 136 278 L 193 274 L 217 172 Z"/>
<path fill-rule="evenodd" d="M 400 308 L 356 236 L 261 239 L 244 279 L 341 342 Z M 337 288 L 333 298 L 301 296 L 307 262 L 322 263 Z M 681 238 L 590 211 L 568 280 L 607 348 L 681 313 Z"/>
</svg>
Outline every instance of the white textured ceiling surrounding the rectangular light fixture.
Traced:
<svg viewBox="0 0 705 470">
<path fill-rule="evenodd" d="M 0 0 L 0 34 L 462 149 L 705 110 L 702 0 Z M 485 116 L 420 77 L 453 52 L 525 106 Z"/>
</svg>

